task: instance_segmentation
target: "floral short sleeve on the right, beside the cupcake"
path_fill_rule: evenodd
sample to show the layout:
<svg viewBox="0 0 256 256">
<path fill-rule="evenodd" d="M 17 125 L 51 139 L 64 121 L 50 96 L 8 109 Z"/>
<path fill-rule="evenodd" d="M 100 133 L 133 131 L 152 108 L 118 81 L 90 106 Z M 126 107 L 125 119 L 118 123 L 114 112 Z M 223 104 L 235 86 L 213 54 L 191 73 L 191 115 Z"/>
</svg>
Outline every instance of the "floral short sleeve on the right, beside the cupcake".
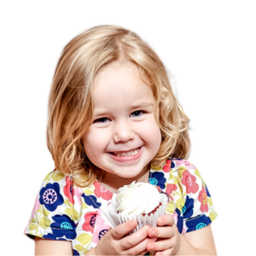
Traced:
<svg viewBox="0 0 256 256">
<path fill-rule="evenodd" d="M 198 169 L 187 160 L 172 160 L 168 186 L 176 207 L 177 228 L 180 233 L 199 230 L 217 217 L 212 196 Z"/>
</svg>

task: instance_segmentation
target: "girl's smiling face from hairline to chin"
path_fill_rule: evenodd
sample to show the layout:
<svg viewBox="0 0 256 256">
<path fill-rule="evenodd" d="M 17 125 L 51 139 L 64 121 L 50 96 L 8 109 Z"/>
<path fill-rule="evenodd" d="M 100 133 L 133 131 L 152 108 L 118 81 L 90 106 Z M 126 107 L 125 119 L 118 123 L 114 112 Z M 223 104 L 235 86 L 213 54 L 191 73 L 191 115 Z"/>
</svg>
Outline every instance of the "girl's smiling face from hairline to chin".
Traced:
<svg viewBox="0 0 256 256">
<path fill-rule="evenodd" d="M 160 148 L 158 106 L 137 66 L 112 63 L 97 77 L 85 152 L 100 169 L 119 177 L 136 177 L 148 168 Z M 156 113 L 156 116 L 155 116 Z"/>
</svg>

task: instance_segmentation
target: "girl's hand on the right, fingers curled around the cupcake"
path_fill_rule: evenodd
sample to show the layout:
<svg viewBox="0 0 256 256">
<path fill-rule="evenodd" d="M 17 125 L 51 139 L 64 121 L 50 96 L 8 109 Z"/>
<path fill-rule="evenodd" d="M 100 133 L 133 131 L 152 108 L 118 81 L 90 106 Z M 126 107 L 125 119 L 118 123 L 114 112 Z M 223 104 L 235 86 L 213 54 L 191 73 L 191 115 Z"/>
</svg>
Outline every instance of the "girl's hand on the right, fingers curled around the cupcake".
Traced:
<svg viewBox="0 0 256 256">
<path fill-rule="evenodd" d="M 179 250 L 181 235 L 170 214 L 158 218 L 157 227 L 149 228 L 148 236 L 157 238 L 147 246 L 148 251 L 155 251 L 156 256 L 175 255 Z"/>
</svg>

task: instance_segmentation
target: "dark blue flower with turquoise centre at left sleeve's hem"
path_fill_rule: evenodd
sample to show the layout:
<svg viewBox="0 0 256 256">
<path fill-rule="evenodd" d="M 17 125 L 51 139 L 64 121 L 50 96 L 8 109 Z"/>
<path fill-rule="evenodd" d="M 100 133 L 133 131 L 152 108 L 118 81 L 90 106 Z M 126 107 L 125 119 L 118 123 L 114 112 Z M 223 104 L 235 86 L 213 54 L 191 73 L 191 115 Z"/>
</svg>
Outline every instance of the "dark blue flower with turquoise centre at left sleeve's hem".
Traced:
<svg viewBox="0 0 256 256">
<path fill-rule="evenodd" d="M 50 224 L 52 234 L 43 236 L 51 240 L 67 240 L 75 239 L 77 237 L 76 224 L 67 215 L 55 215 L 52 218 L 55 222 Z M 67 239 L 63 238 L 66 236 Z M 59 239 L 58 239 L 59 238 Z"/>
</svg>

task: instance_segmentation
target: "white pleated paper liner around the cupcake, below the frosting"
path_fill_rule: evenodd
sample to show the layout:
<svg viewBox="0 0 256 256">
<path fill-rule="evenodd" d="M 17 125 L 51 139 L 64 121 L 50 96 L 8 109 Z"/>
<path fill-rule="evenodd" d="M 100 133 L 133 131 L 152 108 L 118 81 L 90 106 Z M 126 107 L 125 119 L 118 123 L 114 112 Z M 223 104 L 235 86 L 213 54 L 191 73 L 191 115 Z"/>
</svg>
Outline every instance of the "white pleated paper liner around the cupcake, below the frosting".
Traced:
<svg viewBox="0 0 256 256">
<path fill-rule="evenodd" d="M 137 215 L 137 214 L 122 214 L 117 213 L 116 208 L 118 207 L 117 202 L 113 200 L 112 203 L 108 205 L 108 207 L 102 212 L 101 217 L 103 220 L 111 226 L 111 228 L 114 228 L 118 226 L 119 224 L 125 223 L 131 219 L 134 219 L 137 221 L 137 227 L 134 230 L 130 231 L 130 235 L 135 233 L 137 230 L 140 230 L 145 225 L 150 225 L 151 227 L 156 227 L 157 225 L 157 219 L 161 216 L 164 216 L 166 214 L 166 205 L 168 202 L 168 197 L 165 194 L 160 194 L 160 203 L 162 204 L 158 209 L 151 213 L 150 216 L 148 214 Z"/>
</svg>

